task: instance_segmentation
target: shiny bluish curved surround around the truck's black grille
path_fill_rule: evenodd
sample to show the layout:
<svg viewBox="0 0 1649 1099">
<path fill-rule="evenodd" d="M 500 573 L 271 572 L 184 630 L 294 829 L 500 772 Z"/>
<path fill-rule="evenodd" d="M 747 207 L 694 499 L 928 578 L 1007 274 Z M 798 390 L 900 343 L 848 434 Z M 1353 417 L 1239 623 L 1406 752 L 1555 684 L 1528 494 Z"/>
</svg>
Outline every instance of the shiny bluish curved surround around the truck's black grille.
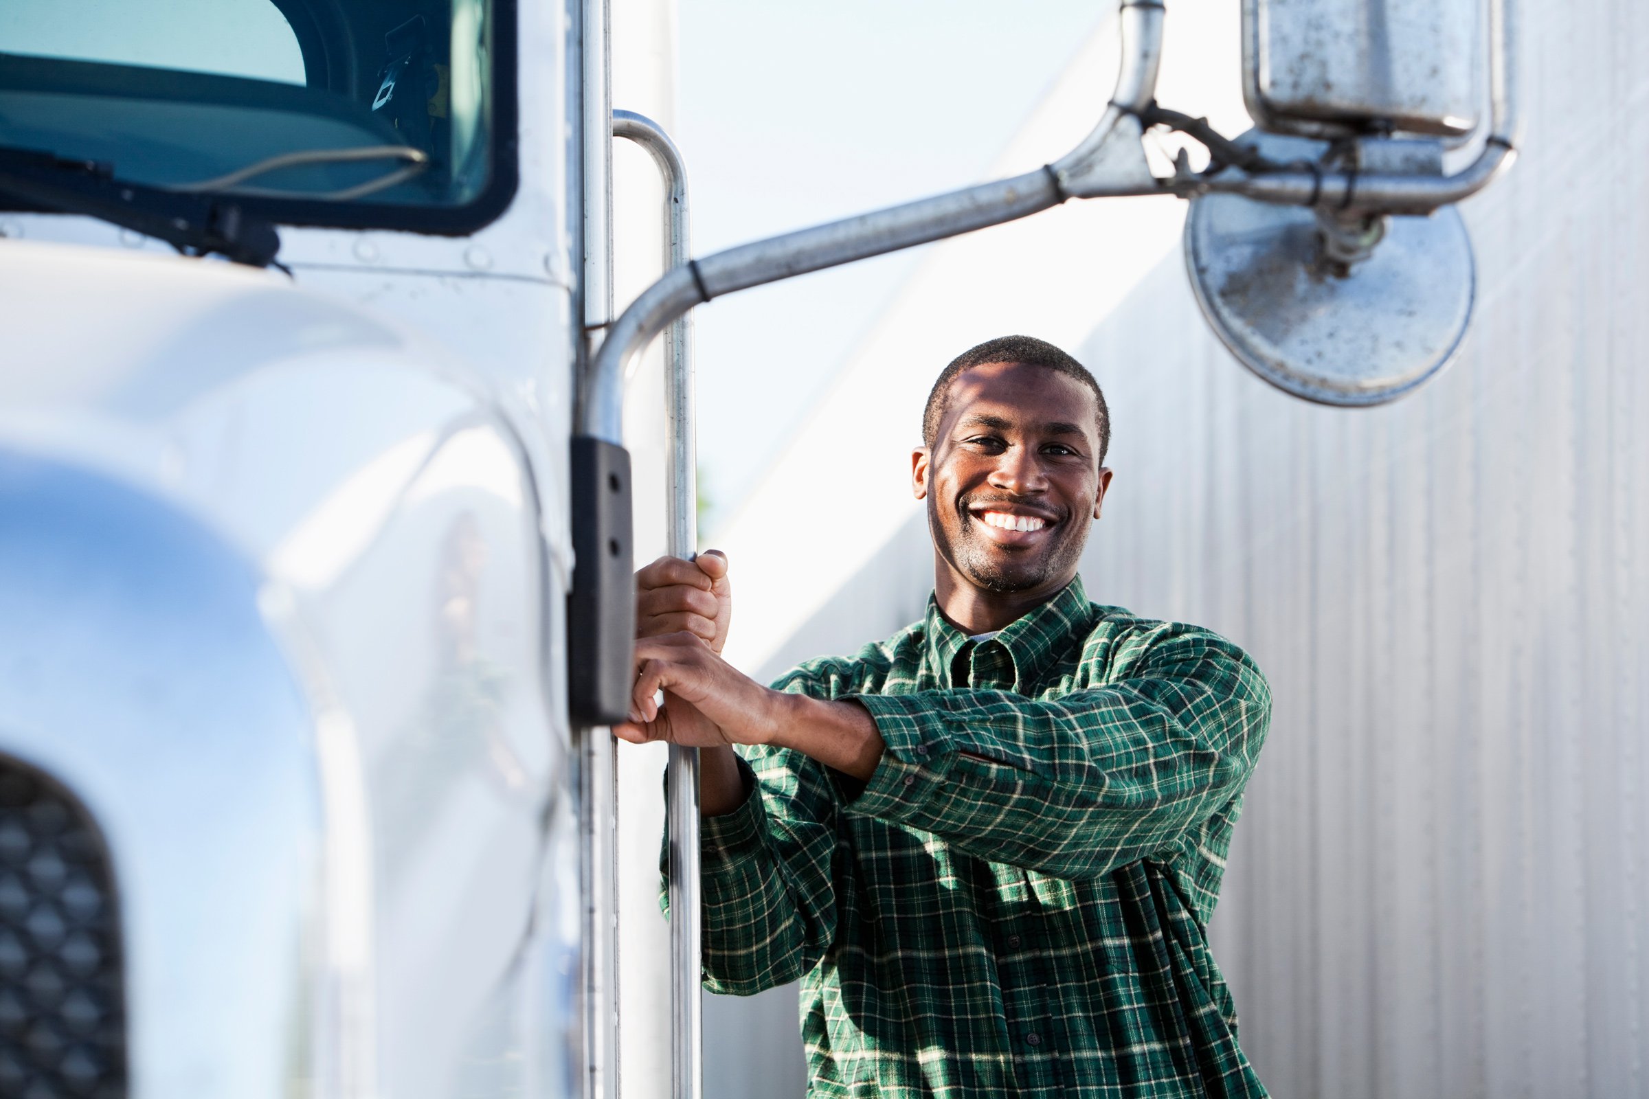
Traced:
<svg viewBox="0 0 1649 1099">
<path fill-rule="evenodd" d="M 318 1053 L 323 796 L 259 590 L 181 512 L 0 451 L 0 751 L 109 845 L 134 1096 L 277 1099 Z"/>
</svg>

